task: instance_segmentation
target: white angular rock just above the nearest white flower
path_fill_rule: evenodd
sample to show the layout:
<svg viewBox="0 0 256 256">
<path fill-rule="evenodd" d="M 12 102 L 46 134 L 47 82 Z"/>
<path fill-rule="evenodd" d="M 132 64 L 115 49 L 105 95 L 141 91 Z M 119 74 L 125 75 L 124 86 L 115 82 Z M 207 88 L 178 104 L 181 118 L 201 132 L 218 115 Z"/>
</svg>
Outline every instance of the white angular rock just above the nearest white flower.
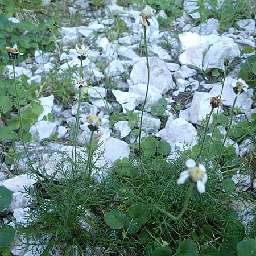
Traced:
<svg viewBox="0 0 256 256">
<path fill-rule="evenodd" d="M 156 135 L 165 139 L 172 148 L 175 148 L 177 142 L 185 144 L 188 147 L 193 147 L 197 143 L 196 128 L 183 118 L 177 118 L 174 121 L 168 119 L 166 127 Z"/>
</svg>

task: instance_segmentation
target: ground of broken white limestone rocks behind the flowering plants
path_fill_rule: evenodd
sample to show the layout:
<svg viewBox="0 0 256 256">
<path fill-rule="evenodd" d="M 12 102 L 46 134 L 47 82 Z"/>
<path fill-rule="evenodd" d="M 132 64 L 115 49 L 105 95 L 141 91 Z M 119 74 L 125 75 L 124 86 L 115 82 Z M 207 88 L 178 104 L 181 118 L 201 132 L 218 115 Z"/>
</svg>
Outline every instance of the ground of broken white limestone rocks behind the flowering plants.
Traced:
<svg viewBox="0 0 256 256">
<path fill-rule="evenodd" d="M 221 92 L 220 80 L 210 75 L 210 71 L 214 69 L 219 72 L 224 71 L 225 59 L 229 59 L 230 66 L 222 98 L 226 100 L 225 108 L 232 106 L 236 96 L 232 83 L 238 79 L 240 64 L 250 56 L 243 54 L 241 57 L 241 51 L 244 47 L 255 47 L 256 38 L 255 19 L 237 20 L 236 28 L 231 27 L 223 32 L 219 28 L 220 22 L 214 18 L 195 26 L 193 19 L 198 18 L 199 13 L 189 15 L 188 11 L 195 10 L 196 6 L 189 1 L 184 1 L 183 5 L 183 16 L 171 24 L 172 30 L 163 31 L 159 27 L 156 18 L 158 16 L 167 18 L 163 10 L 158 12 L 152 10 L 155 17 L 152 18 L 150 29 L 147 30 L 150 89 L 146 113 L 143 117 L 143 137 L 151 134 L 165 139 L 172 149 L 170 158 L 175 158 L 177 150 L 184 148 L 184 143 L 185 148 L 197 144 L 197 129 L 211 109 L 210 97 L 218 96 Z M 146 58 L 141 55 L 143 28 L 139 23 L 140 11 L 134 10 L 133 6 L 129 8 L 118 6 L 113 1 L 104 10 L 98 11 L 98 18 L 95 19 L 86 11 L 88 7 L 86 1 L 77 1 L 77 7 L 69 7 L 70 13 L 75 13 L 76 8 L 80 8 L 84 11 L 85 18 L 90 17 L 91 20 L 88 26 L 70 27 L 64 24 L 59 28 L 60 36 L 56 39 L 56 43 L 61 46 L 60 55 L 57 51 L 44 53 L 36 51 L 33 63 L 22 63 L 16 67 L 16 76 L 25 74 L 29 77 L 29 81 L 40 83 L 45 73 L 57 69 L 61 74 L 70 68 L 79 67 L 80 61 L 76 55 L 69 53 L 69 49 L 75 48 L 76 43 L 79 47 L 81 44 L 88 46 L 89 57 L 84 61 L 83 73 L 84 80 L 91 87 L 88 90 L 89 102 L 81 103 L 79 144 L 82 148 L 83 143 L 90 138 L 86 117 L 103 112 L 101 150 L 104 150 L 104 158 L 100 159 L 99 164 L 104 164 L 106 161 L 112 166 L 116 159 L 128 157 L 129 144 L 138 141 L 134 127 L 129 125 L 127 118 L 115 120 L 113 124 L 111 117 L 115 109 L 118 109 L 122 117 L 126 117 L 133 110 L 135 110 L 134 114 L 138 113 L 138 117 L 141 113 L 139 106 L 143 103 L 147 82 Z M 113 29 L 116 15 L 125 22 L 129 31 L 122 32 L 122 36 L 110 42 L 105 33 Z M 19 22 L 15 18 L 10 20 Z M 98 61 L 104 63 L 104 68 L 97 65 Z M 13 77 L 11 65 L 7 65 L 6 69 L 7 76 Z M 115 84 L 115 88 L 106 88 L 106 81 Z M 75 82 L 71 86 L 75 86 Z M 240 107 L 240 112 L 234 118 L 234 122 L 251 122 L 251 114 L 256 113 L 253 97 L 252 88 L 238 96 L 236 107 Z M 167 101 L 163 116 L 151 114 L 151 106 L 158 105 L 158 100 L 162 98 Z M 75 123 L 77 104 L 64 108 L 55 101 L 53 95 L 42 96 L 39 100 L 44 111 L 40 114 L 38 122 L 30 129 L 34 142 L 27 143 L 28 152 L 37 166 L 44 166 L 46 172 L 52 174 L 56 163 L 60 160 L 56 150 L 71 150 L 70 127 Z M 180 108 L 176 107 L 177 104 L 180 104 Z M 54 122 L 43 119 L 49 113 L 53 115 Z M 56 132 L 56 141 L 51 141 Z M 50 142 L 43 143 L 46 141 Z M 229 139 L 228 143 L 232 144 L 233 141 Z M 251 144 L 247 146 L 249 144 L 250 139 L 236 143 L 236 154 L 239 156 L 247 154 L 252 150 Z M 15 151 L 23 151 L 20 142 L 15 143 Z M 35 183 L 25 174 L 16 176 L 11 174 L 15 168 L 27 169 L 24 160 L 26 159 L 20 159 L 16 166 L 14 164 L 7 166 L 3 163 L 0 170 L 0 185 L 13 193 L 13 201 L 8 211 L 13 214 L 17 222 L 26 221 L 23 215 L 29 209 L 28 199 L 22 194 L 24 186 L 29 187 Z M 251 175 L 240 175 L 238 171 L 237 175 L 233 176 L 233 180 L 243 191 L 256 188 L 254 177 Z M 13 255 L 38 255 L 31 252 L 23 254 L 23 250 L 17 249 L 18 243 L 19 241 L 15 240 L 11 244 Z"/>
</svg>

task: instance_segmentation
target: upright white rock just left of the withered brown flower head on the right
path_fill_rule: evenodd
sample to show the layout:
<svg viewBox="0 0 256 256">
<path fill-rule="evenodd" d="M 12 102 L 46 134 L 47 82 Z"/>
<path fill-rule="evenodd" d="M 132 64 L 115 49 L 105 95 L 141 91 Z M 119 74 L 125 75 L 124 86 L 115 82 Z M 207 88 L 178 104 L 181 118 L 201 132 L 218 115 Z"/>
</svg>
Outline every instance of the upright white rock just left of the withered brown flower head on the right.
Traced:
<svg viewBox="0 0 256 256">
<path fill-rule="evenodd" d="M 209 93 L 195 92 L 190 106 L 191 123 L 200 125 L 202 119 L 207 117 L 211 109 Z M 212 122 L 212 117 L 210 118 L 210 122 Z"/>
</svg>

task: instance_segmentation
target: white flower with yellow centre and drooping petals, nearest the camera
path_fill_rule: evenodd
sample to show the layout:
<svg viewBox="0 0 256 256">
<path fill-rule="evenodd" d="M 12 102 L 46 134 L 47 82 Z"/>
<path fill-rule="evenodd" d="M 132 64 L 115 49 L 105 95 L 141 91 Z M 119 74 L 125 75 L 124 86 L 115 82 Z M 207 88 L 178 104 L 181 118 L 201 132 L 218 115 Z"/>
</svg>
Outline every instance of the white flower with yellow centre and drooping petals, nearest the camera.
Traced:
<svg viewBox="0 0 256 256">
<path fill-rule="evenodd" d="M 193 182 L 196 183 L 199 193 L 204 193 L 205 183 L 207 182 L 207 173 L 204 165 L 198 164 L 198 166 L 196 166 L 196 162 L 193 159 L 188 159 L 186 161 L 186 166 L 188 167 L 188 170 L 180 173 L 177 184 L 180 185 L 185 183 L 185 180 L 187 180 L 189 177 Z"/>
</svg>

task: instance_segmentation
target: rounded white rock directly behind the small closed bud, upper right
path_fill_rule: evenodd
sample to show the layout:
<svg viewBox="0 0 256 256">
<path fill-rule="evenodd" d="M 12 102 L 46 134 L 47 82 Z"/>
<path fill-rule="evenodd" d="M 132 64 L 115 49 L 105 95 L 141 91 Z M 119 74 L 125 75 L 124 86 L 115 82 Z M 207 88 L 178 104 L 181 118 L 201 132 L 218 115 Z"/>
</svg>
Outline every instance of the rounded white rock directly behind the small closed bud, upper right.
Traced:
<svg viewBox="0 0 256 256">
<path fill-rule="evenodd" d="M 231 38 L 222 38 L 220 42 L 213 44 L 208 49 L 204 56 L 203 69 L 207 71 L 217 68 L 224 71 L 224 60 L 229 59 L 231 62 L 237 57 L 240 57 L 240 50 L 234 40 Z"/>
</svg>

